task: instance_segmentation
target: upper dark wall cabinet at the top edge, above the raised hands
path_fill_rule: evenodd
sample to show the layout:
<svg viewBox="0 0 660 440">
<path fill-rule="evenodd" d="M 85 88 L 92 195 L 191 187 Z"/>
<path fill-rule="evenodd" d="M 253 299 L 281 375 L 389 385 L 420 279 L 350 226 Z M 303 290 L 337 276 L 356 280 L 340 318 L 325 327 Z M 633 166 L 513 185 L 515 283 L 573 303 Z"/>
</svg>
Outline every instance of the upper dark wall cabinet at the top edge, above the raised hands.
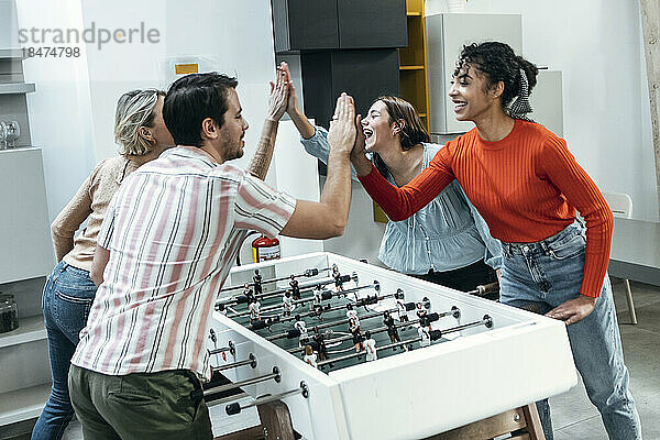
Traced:
<svg viewBox="0 0 660 440">
<path fill-rule="evenodd" d="M 405 47 L 405 0 L 272 0 L 275 52 Z"/>
</svg>

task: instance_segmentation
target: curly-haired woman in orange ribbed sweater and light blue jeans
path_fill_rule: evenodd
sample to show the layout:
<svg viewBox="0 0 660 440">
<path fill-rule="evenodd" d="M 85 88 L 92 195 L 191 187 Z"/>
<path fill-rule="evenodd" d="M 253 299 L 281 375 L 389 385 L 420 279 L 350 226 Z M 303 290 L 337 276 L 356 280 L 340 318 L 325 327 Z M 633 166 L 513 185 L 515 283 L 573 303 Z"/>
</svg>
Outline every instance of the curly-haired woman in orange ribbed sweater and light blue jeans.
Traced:
<svg viewBox="0 0 660 440">
<path fill-rule="evenodd" d="M 395 221 L 425 207 L 455 178 L 502 241 L 502 302 L 563 320 L 609 438 L 641 439 L 606 274 L 613 215 L 565 141 L 526 117 L 537 73 L 504 43 L 465 46 L 449 96 L 457 119 L 476 128 L 450 141 L 400 188 L 375 172 L 363 151 L 353 151 L 352 163 Z M 547 400 L 537 407 L 552 439 Z"/>
</svg>

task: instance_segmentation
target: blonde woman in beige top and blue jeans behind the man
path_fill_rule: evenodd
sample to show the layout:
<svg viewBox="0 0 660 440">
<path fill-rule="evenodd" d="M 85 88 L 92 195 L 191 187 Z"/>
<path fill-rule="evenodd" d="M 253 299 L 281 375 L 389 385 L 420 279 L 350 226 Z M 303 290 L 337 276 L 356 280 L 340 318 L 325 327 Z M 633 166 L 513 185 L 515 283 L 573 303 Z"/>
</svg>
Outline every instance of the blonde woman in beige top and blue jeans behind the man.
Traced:
<svg viewBox="0 0 660 440">
<path fill-rule="evenodd" d="M 97 234 L 110 199 L 127 176 L 174 146 L 163 121 L 164 97 L 161 90 L 146 89 L 119 98 L 114 120 L 119 155 L 96 166 L 51 227 L 58 264 L 46 280 L 42 307 L 53 386 L 32 439 L 61 439 L 74 415 L 67 377 L 97 290 L 89 277 Z M 85 229 L 74 237 L 86 220 Z"/>
</svg>

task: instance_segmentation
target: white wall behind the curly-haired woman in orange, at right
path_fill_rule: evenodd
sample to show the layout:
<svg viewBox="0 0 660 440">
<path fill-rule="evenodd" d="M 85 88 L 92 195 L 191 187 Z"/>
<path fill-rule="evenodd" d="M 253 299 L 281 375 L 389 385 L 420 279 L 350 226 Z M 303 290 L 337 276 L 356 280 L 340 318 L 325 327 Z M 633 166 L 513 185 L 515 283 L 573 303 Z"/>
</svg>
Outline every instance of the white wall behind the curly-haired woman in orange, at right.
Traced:
<svg viewBox="0 0 660 440">
<path fill-rule="evenodd" d="M 446 11 L 426 0 L 427 14 Z M 658 220 L 638 1 L 470 0 L 465 12 L 522 14 L 525 56 L 563 72 L 569 148 L 603 191 L 630 194 L 634 217 Z"/>
</svg>

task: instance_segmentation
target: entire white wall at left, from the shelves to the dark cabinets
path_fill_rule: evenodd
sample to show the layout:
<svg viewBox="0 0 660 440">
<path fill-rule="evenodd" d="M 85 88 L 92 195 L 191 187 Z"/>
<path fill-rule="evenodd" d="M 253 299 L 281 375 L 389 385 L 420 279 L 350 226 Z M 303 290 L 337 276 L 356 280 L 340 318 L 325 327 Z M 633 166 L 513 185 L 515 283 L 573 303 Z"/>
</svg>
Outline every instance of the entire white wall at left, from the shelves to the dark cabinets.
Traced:
<svg viewBox="0 0 660 440">
<path fill-rule="evenodd" d="M 235 164 L 248 165 L 266 116 L 268 81 L 275 74 L 270 0 L 202 0 L 194 6 L 174 0 L 18 3 L 20 28 L 82 30 L 94 23 L 97 29 L 128 30 L 144 22 L 147 30 L 160 33 L 155 44 L 109 43 L 99 50 L 96 44 L 80 43 L 80 57 L 25 61 L 25 79 L 37 87 L 30 96 L 30 117 L 33 143 L 44 148 L 51 221 L 95 164 L 117 154 L 112 130 L 119 96 L 134 88 L 165 89 L 172 78 L 162 70 L 170 57 L 202 56 L 210 59 L 205 67 L 239 78 L 238 92 L 251 128 L 245 155 Z M 316 186 L 297 187 L 288 178 L 293 170 L 310 182 L 317 182 L 318 175 L 316 167 L 306 166 L 309 158 L 300 154 L 297 139 L 289 135 L 287 140 L 296 144 L 295 150 L 287 151 L 278 142 L 266 182 L 294 196 L 318 199 Z M 320 243 L 290 241 L 283 243 L 283 252 L 300 253 L 309 246 L 321 249 Z M 248 256 L 244 252 L 243 260 Z"/>
</svg>

